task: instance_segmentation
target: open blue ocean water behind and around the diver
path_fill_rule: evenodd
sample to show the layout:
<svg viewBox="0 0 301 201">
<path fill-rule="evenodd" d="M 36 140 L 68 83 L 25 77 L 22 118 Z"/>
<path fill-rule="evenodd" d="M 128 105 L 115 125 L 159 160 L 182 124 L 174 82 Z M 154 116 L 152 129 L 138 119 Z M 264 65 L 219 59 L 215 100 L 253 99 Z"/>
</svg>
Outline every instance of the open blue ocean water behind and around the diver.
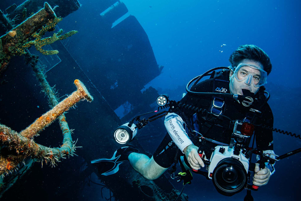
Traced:
<svg viewBox="0 0 301 201">
<path fill-rule="evenodd" d="M 15 1 L 18 5 L 22 1 Z M 145 88 L 160 88 L 171 97 L 184 93 L 191 78 L 216 66 L 228 66 L 229 55 L 242 44 L 255 44 L 270 56 L 273 69 L 268 77 L 269 105 L 274 125 L 279 129 L 301 133 L 299 102 L 300 2 L 246 0 L 123 0 L 129 13 L 144 28 L 163 72 Z M 89 21 L 98 17 L 98 1 L 82 0 L 82 7 L 59 26 L 65 30 L 85 30 L 97 35 Z M 95 40 L 98 40 L 96 38 Z M 100 40 L 100 39 L 99 39 Z M 81 41 L 78 41 L 81 43 Z M 82 46 L 89 46 L 87 41 Z M 221 47 L 222 44 L 226 46 Z M 80 50 L 69 49 L 70 53 Z M 82 53 L 89 58 L 89 53 Z M 76 58 L 75 58 L 76 59 Z M 96 58 L 86 61 L 87 70 L 95 68 Z M 175 91 L 178 87 L 182 91 Z M 153 144 L 152 146 L 157 146 Z M 274 133 L 275 153 L 282 155 L 301 146 L 300 139 Z M 301 154 L 277 162 L 268 185 L 252 192 L 255 200 L 299 200 Z M 177 186 L 181 190 L 181 186 Z M 189 200 L 242 200 L 245 192 L 232 197 L 218 194 L 211 181 L 194 177 L 184 193 Z"/>
</svg>

